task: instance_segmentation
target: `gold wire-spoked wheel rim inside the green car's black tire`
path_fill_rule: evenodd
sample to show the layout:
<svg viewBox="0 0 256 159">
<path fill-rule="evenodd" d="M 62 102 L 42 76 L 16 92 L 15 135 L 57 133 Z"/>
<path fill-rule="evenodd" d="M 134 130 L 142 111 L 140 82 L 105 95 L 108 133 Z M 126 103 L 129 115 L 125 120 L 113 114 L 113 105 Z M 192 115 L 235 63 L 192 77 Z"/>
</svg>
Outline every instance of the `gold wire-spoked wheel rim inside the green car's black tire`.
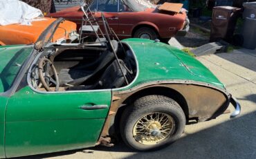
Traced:
<svg viewBox="0 0 256 159">
<path fill-rule="evenodd" d="M 175 122 L 167 113 L 149 113 L 134 125 L 133 135 L 141 144 L 158 144 L 174 133 Z"/>
</svg>

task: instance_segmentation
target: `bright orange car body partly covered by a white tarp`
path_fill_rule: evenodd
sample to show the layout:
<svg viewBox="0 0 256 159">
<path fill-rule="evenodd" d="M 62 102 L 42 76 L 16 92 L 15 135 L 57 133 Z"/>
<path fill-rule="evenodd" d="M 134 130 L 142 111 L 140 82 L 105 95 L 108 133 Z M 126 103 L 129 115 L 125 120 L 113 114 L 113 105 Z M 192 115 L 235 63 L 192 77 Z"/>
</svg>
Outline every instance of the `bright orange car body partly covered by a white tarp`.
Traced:
<svg viewBox="0 0 256 159">
<path fill-rule="evenodd" d="M 34 44 L 44 30 L 50 26 L 54 18 L 33 21 L 31 26 L 11 24 L 0 26 L 0 45 Z M 71 21 L 64 21 L 57 28 L 53 41 L 68 39 L 68 35 L 76 31 L 76 24 Z"/>
</svg>

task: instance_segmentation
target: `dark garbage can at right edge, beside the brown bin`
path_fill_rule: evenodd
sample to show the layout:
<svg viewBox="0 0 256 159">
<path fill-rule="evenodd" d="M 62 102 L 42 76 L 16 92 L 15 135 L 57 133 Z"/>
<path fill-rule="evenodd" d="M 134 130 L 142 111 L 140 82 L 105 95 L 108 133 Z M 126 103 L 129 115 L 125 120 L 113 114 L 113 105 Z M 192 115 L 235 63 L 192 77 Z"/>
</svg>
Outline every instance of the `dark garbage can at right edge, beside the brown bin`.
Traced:
<svg viewBox="0 0 256 159">
<path fill-rule="evenodd" d="M 244 3 L 244 48 L 256 48 L 256 2 Z"/>
</svg>

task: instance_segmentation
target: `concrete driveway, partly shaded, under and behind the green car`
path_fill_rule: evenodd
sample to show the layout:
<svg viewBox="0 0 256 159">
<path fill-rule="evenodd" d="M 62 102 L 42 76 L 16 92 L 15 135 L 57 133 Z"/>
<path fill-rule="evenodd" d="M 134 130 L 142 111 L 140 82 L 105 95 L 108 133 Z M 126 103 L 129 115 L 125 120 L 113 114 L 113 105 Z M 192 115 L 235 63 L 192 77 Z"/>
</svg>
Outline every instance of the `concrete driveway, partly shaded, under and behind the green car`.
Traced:
<svg viewBox="0 0 256 159">
<path fill-rule="evenodd" d="M 94 147 L 51 153 L 30 158 L 256 158 L 256 50 L 235 50 L 198 57 L 226 84 L 242 106 L 239 118 L 230 114 L 216 120 L 185 127 L 183 137 L 160 151 L 136 152 L 120 143 L 115 147 Z M 231 111 L 234 109 L 229 107 Z M 26 157 L 28 158 L 28 157 Z"/>
</svg>

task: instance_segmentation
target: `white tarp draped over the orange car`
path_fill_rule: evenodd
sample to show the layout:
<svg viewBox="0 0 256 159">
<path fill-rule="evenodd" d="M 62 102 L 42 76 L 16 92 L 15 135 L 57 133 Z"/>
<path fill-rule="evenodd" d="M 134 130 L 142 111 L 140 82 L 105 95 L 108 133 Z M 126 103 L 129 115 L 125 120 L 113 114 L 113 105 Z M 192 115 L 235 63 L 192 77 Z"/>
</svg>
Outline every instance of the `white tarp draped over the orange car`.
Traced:
<svg viewBox="0 0 256 159">
<path fill-rule="evenodd" d="M 37 17 L 44 17 L 42 11 L 27 3 L 18 0 L 0 0 L 0 26 L 31 25 L 30 22 Z"/>
</svg>

